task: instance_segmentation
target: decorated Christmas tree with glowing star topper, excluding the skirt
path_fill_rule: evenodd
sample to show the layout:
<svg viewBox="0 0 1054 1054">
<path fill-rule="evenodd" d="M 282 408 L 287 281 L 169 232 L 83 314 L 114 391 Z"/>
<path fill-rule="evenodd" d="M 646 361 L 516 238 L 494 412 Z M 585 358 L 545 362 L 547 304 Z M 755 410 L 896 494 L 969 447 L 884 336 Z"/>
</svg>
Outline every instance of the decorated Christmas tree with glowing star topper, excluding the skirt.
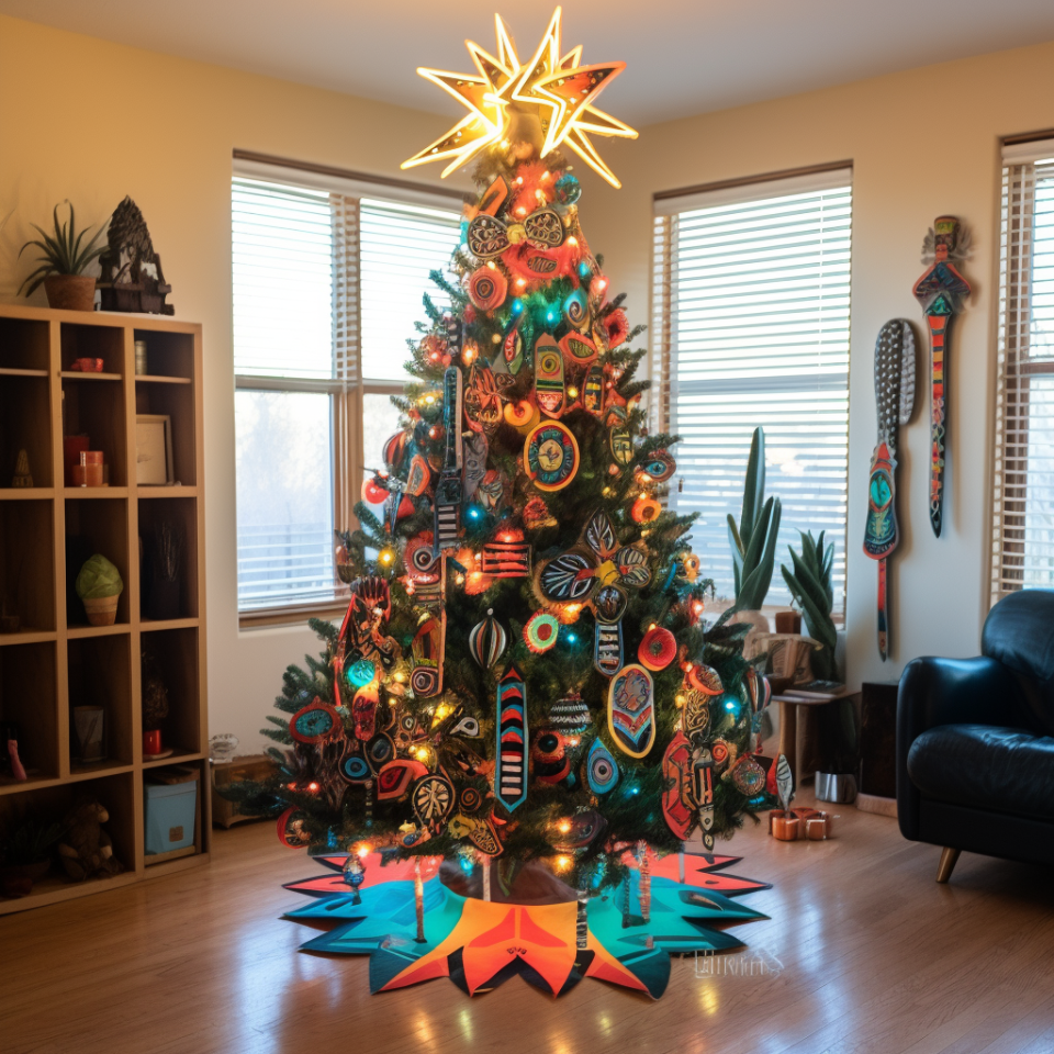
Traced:
<svg viewBox="0 0 1054 1054">
<path fill-rule="evenodd" d="M 350 604 L 291 666 L 271 717 L 280 834 L 319 854 L 444 857 L 503 879 L 545 862 L 595 894 L 707 850 L 766 807 L 766 702 L 749 629 L 703 619 L 696 514 L 666 507 L 672 435 L 649 434 L 623 298 L 581 224 L 568 149 L 623 64 L 560 55 L 559 11 L 522 65 L 497 20 L 478 75 L 423 70 L 470 116 L 408 165 L 474 162 L 450 269 L 410 341 L 414 381 L 337 557 Z M 368 501 L 367 501 L 368 500 Z M 384 503 L 375 515 L 371 505 Z"/>
</svg>

